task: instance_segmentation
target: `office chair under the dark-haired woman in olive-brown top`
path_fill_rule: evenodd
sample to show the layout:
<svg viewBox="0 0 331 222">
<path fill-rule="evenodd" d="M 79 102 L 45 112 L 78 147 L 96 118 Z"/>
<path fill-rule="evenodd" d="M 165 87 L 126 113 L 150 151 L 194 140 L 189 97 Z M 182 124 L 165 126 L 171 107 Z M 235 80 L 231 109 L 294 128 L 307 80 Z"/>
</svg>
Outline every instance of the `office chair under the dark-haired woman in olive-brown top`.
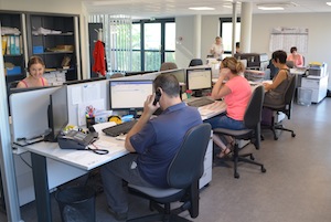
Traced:
<svg viewBox="0 0 331 222">
<path fill-rule="evenodd" d="M 286 88 L 286 93 L 284 94 L 284 104 L 280 105 L 274 105 L 274 104 L 264 104 L 264 108 L 268 108 L 273 110 L 273 119 L 271 119 L 271 126 L 270 129 L 274 133 L 274 139 L 278 139 L 277 129 L 284 130 L 284 131 L 290 131 L 292 137 L 296 137 L 296 134 L 292 129 L 285 128 L 282 123 L 277 123 L 276 115 L 279 114 L 279 112 L 284 113 L 288 119 L 291 117 L 292 113 L 292 103 L 295 98 L 295 92 L 296 92 L 296 83 L 297 83 L 297 75 L 290 76 L 290 82 Z"/>
</svg>

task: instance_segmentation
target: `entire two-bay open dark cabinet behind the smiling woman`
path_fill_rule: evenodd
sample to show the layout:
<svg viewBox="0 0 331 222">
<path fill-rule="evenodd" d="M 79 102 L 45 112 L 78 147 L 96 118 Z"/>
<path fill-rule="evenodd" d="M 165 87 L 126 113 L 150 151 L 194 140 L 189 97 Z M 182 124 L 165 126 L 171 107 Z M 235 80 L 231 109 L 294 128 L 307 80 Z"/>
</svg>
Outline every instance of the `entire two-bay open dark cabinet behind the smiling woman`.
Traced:
<svg viewBox="0 0 331 222">
<path fill-rule="evenodd" d="M 7 84 L 26 76 L 25 67 L 32 55 L 45 62 L 44 76 L 51 85 L 82 78 L 78 15 L 0 11 L 0 22 L 19 31 L 2 33 L 6 40 L 13 36 L 18 46 L 15 53 L 9 50 L 3 54 L 4 66 L 11 67 L 7 68 Z"/>
</svg>

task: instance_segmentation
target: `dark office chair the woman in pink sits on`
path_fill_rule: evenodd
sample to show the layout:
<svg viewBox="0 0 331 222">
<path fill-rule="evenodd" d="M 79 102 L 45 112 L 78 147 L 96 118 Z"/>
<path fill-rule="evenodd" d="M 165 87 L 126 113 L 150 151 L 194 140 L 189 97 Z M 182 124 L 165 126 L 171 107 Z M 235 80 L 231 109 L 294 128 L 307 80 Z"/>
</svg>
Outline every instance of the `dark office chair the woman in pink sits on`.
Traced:
<svg viewBox="0 0 331 222">
<path fill-rule="evenodd" d="M 234 161 L 234 177 L 237 179 L 239 178 L 239 173 L 237 172 L 237 163 L 239 161 L 260 166 L 260 171 L 266 172 L 266 169 L 263 163 L 254 161 L 253 154 L 239 155 L 239 146 L 238 146 L 238 140 L 244 139 L 244 140 L 250 140 L 250 142 L 255 145 L 255 148 L 259 149 L 260 120 L 261 120 L 261 108 L 263 108 L 264 95 L 265 95 L 264 86 L 260 85 L 254 89 L 244 115 L 244 124 L 246 129 L 242 129 L 242 130 L 233 130 L 226 128 L 213 129 L 213 134 L 226 135 L 235 139 L 232 160 Z M 247 157 L 249 157 L 249 159 Z"/>
</svg>

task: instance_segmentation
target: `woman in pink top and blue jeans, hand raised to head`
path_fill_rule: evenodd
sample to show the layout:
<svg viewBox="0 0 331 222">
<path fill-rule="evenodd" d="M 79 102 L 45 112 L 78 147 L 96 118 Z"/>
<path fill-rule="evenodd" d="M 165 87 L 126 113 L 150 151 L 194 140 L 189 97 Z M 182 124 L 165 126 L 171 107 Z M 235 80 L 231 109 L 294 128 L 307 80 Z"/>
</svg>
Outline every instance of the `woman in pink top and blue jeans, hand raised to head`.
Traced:
<svg viewBox="0 0 331 222">
<path fill-rule="evenodd" d="M 241 75 L 244 65 L 235 57 L 225 57 L 221 63 L 220 78 L 213 87 L 212 97 L 220 99 L 224 97 L 226 114 L 206 119 L 212 128 L 244 129 L 244 114 L 252 96 L 248 81 Z M 228 80 L 223 84 L 224 80 Z M 220 158 L 225 157 L 232 150 L 233 139 L 225 137 L 228 145 L 225 146 L 217 135 L 213 135 L 214 142 L 221 148 Z"/>
</svg>

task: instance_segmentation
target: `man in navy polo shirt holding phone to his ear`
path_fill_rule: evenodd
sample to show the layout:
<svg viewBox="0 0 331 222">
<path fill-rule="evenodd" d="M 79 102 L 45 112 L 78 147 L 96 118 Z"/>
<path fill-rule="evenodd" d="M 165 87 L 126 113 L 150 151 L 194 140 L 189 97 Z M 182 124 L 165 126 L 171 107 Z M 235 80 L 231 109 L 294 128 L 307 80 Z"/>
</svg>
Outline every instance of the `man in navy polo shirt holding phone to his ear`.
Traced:
<svg viewBox="0 0 331 222">
<path fill-rule="evenodd" d="M 153 88 L 161 94 L 159 102 L 153 105 L 156 95 L 148 96 L 141 117 L 127 134 L 125 147 L 130 154 L 102 167 L 109 212 L 117 220 L 125 220 L 128 212 L 122 179 L 137 186 L 167 187 L 168 167 L 184 135 L 190 128 L 202 124 L 196 108 L 181 101 L 174 75 L 159 75 Z M 162 114 L 151 118 L 159 107 Z"/>
</svg>

